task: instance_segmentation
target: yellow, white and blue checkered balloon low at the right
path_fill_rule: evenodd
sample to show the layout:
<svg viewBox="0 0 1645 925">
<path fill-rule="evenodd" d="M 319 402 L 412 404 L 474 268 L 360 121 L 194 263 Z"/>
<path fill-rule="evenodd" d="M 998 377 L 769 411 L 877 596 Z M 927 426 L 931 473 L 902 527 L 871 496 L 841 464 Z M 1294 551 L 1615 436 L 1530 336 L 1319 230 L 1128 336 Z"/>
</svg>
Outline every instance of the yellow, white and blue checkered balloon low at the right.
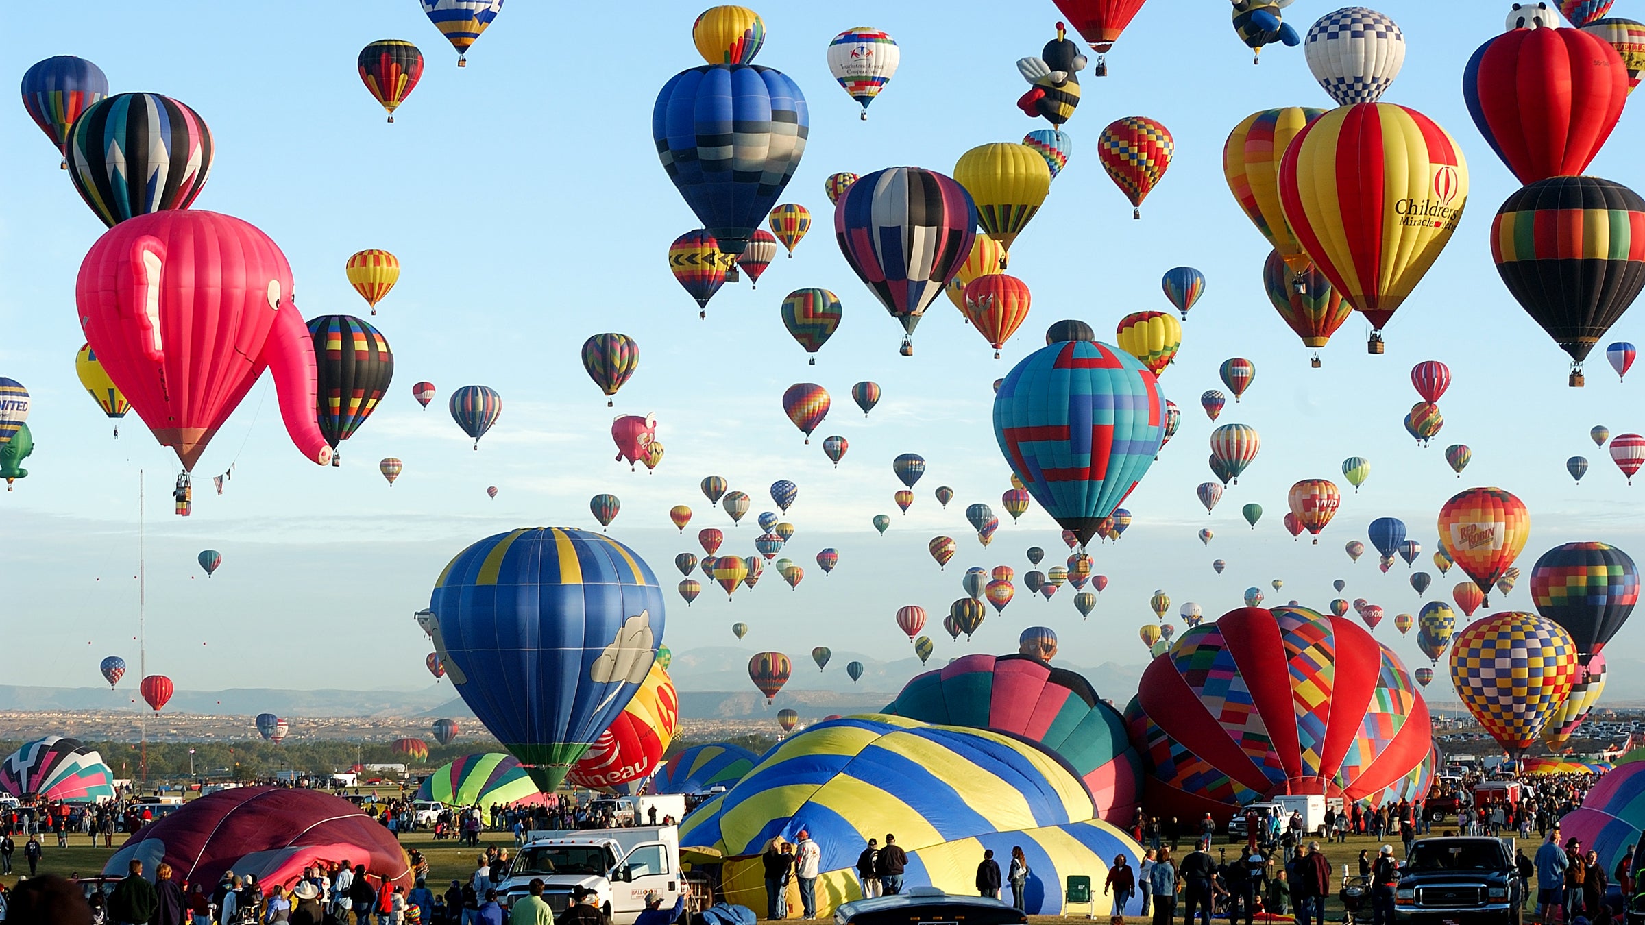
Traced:
<svg viewBox="0 0 1645 925">
<path fill-rule="evenodd" d="M 1579 675 L 1571 635 L 1533 614 L 1492 614 L 1451 647 L 1451 681 L 1462 706 L 1513 760 L 1536 744 Z"/>
</svg>

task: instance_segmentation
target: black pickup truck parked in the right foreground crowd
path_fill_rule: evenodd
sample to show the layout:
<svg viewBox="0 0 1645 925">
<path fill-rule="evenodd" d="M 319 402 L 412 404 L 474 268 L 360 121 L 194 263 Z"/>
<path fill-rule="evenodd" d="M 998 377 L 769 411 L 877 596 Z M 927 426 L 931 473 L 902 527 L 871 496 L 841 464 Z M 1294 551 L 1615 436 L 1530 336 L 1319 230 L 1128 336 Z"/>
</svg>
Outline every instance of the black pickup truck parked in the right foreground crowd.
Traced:
<svg viewBox="0 0 1645 925">
<path fill-rule="evenodd" d="M 1522 889 L 1507 841 L 1425 838 L 1400 867 L 1393 912 L 1413 925 L 1520 925 Z"/>
</svg>

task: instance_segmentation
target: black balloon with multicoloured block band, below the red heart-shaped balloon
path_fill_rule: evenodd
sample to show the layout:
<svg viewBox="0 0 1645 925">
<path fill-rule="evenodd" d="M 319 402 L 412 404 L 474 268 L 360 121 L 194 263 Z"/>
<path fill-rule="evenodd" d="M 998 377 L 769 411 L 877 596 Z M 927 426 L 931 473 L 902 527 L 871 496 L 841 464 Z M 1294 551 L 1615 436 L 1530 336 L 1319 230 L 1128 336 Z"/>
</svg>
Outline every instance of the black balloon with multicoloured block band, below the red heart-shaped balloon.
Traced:
<svg viewBox="0 0 1645 925">
<path fill-rule="evenodd" d="M 1497 273 L 1571 356 L 1571 385 L 1582 385 L 1582 360 L 1645 286 L 1645 234 L 1633 230 L 1640 225 L 1645 199 L 1592 176 L 1538 179 L 1508 196 L 1492 219 Z M 1561 234 L 1548 234 L 1550 227 Z"/>
</svg>

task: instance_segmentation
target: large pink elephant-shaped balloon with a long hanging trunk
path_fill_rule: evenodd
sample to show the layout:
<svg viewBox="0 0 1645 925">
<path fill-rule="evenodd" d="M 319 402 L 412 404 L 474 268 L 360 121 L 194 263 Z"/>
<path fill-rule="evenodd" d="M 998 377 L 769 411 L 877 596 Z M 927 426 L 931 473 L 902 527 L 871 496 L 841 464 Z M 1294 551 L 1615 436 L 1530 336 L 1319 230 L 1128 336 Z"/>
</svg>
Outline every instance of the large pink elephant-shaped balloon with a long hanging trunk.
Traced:
<svg viewBox="0 0 1645 925">
<path fill-rule="evenodd" d="M 168 209 L 97 239 L 74 301 L 109 379 L 184 469 L 265 369 L 291 443 L 324 466 L 314 344 L 291 286 L 286 255 L 248 222 Z"/>
</svg>

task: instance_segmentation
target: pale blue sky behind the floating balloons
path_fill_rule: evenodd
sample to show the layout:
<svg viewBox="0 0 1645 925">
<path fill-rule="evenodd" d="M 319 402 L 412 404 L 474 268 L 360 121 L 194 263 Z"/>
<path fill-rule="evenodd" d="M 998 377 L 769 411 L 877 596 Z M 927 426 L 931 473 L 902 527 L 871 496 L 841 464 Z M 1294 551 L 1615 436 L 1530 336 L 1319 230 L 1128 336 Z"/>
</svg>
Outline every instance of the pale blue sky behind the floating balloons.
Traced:
<svg viewBox="0 0 1645 925">
<path fill-rule="evenodd" d="M 15 658 L 8 683 L 89 685 L 107 653 L 133 662 L 137 634 L 137 482 L 146 472 L 148 667 L 179 688 L 222 686 L 421 686 L 428 642 L 411 622 L 444 563 L 467 543 L 520 525 L 595 527 L 587 499 L 612 492 L 622 514 L 610 533 L 635 546 L 670 588 L 666 642 L 676 650 L 725 645 L 745 621 L 748 652 L 778 648 L 796 662 L 813 645 L 901 657 L 893 625 L 903 604 L 921 604 L 933 624 L 961 596 L 967 566 L 1028 569 L 1023 550 L 1063 555 L 1058 528 L 1040 510 L 1003 523 L 990 548 L 964 520 L 967 504 L 1000 507 L 1008 469 L 990 430 L 990 383 L 1041 342 L 1048 324 L 1082 318 L 1112 339 L 1114 323 L 1137 309 L 1166 309 L 1160 275 L 1188 263 L 1204 270 L 1207 295 L 1184 324 L 1176 364 L 1163 375 L 1183 408 L 1183 426 L 1127 507 L 1135 523 L 1119 545 L 1094 551 L 1112 583 L 1089 621 L 1071 589 L 1053 601 L 1018 599 L 987 617 L 969 647 L 938 627 L 938 658 L 1015 648 L 1025 625 L 1051 625 L 1074 663 L 1143 660 L 1137 629 L 1148 597 L 1165 589 L 1176 604 L 1207 614 L 1239 606 L 1250 584 L 1286 583 L 1270 599 L 1298 597 L 1324 607 L 1331 581 L 1349 581 L 1349 599 L 1382 604 L 1379 637 L 1415 667 L 1415 639 L 1397 639 L 1392 616 L 1423 601 L 1398 563 L 1387 576 L 1374 555 L 1351 565 L 1342 543 L 1364 540 L 1380 515 L 1406 520 L 1425 546 L 1436 543 L 1434 512 L 1451 492 L 1499 484 L 1531 510 L 1531 540 L 1520 566 L 1568 540 L 1606 540 L 1638 551 L 1635 492 L 1602 449 L 1592 425 L 1637 431 L 1635 382 L 1619 385 L 1604 359 L 1589 364 L 1587 387 L 1566 388 L 1566 362 L 1507 295 L 1490 263 L 1490 216 L 1517 186 L 1474 130 L 1459 76 L 1471 51 L 1500 31 L 1505 3 L 1387 0 L 1380 8 L 1403 28 L 1405 69 L 1385 102 L 1413 105 L 1462 145 L 1471 199 L 1446 253 L 1387 329 L 1385 356 L 1364 351 L 1365 324 L 1349 321 L 1308 367 L 1308 351 L 1278 319 L 1260 285 L 1267 242 L 1235 206 L 1221 174 L 1227 132 L 1272 105 L 1331 105 L 1308 74 L 1300 48 L 1275 46 L 1250 64 L 1221 3 L 1153 0 L 1109 56 L 1110 76 L 1084 79 L 1084 100 L 1068 123 L 1076 151 L 1043 211 L 1012 250 L 1012 273 L 1028 283 L 1035 308 L 1005 359 L 961 323 L 946 300 L 931 306 L 911 359 L 897 356 L 900 328 L 852 275 L 831 240 L 822 178 L 890 165 L 951 171 L 967 148 L 1018 140 L 1041 120 L 1013 105 L 1025 84 L 1015 59 L 1051 38 L 1050 2 L 943 7 L 921 3 L 839 13 L 829 5 L 768 5 L 770 40 L 758 63 L 783 69 L 806 92 L 811 138 L 785 199 L 809 206 L 816 227 L 793 260 L 778 258 L 758 291 L 727 286 L 699 321 L 696 304 L 666 268 L 668 244 L 696 225 L 656 161 L 650 138 L 655 92 L 699 63 L 691 46 L 697 7 L 642 2 L 566 7 L 513 0 L 475 44 L 467 69 L 413 0 L 355 3 L 176 2 L 158 15 L 143 5 L 54 7 L 0 49 L 0 72 L 18 79 L 49 54 L 86 56 L 115 91 L 155 91 L 192 105 L 211 125 L 217 155 L 197 207 L 243 217 L 286 252 L 298 303 L 309 316 L 365 313 L 342 273 L 349 253 L 395 252 L 405 272 L 373 319 L 396 357 L 392 397 L 342 446 L 344 466 L 306 464 L 290 446 L 265 379 L 245 400 L 196 474 L 197 504 L 188 520 L 171 515 L 166 489 L 174 458 L 137 415 L 110 438 L 109 423 L 79 388 L 72 356 L 82 337 L 74 316 L 74 273 L 102 232 L 79 201 L 58 156 L 16 104 L 0 115 L 0 374 L 35 397 L 36 451 L 16 490 L 0 497 L 0 579 L 7 586 L 7 640 L 39 658 Z M 1286 21 L 1306 31 L 1334 5 L 1300 0 Z M 1629 15 L 1627 8 L 1619 10 Z M 860 21 L 859 21 L 860 20 Z M 857 105 L 829 77 L 829 38 L 854 25 L 887 30 L 901 67 L 859 122 Z M 428 59 L 423 82 L 395 125 L 354 69 L 360 46 L 408 38 Z M 1637 105 L 1637 104 L 1635 104 Z M 1124 115 L 1161 120 L 1176 160 L 1143 204 L 1143 221 L 1101 170 L 1096 140 Z M 1638 114 L 1624 112 L 1591 173 L 1640 184 Z M 791 288 L 826 286 L 846 318 L 818 365 L 781 328 L 778 304 Z M 614 410 L 577 362 L 582 341 L 622 331 L 640 341 L 642 367 L 615 411 L 651 413 L 666 458 L 655 474 L 612 461 Z M 1614 329 L 1645 337 L 1635 318 Z M 1207 481 L 1206 439 L 1214 425 L 1199 411 L 1202 390 L 1221 387 L 1217 365 L 1234 356 L 1257 365 L 1242 403 L 1217 423 L 1262 433 L 1262 453 L 1230 486 L 1212 515 L 1194 499 Z M 1446 425 L 1418 449 L 1400 426 L 1416 393 L 1408 370 L 1423 359 L 1451 365 L 1441 402 Z M 1645 374 L 1640 374 L 1645 375 Z M 426 411 L 410 395 L 433 380 L 441 397 Z M 869 418 L 849 400 L 852 382 L 872 379 L 885 398 Z M 444 400 L 466 383 L 492 385 L 503 415 L 480 449 L 452 425 Z M 819 382 L 834 410 L 811 446 L 781 411 L 795 382 Z M 834 469 L 821 438 L 850 441 Z M 1456 479 L 1443 458 L 1467 443 L 1474 459 Z M 928 461 L 916 504 L 900 515 L 890 469 L 898 453 Z M 1564 459 L 1586 454 L 1581 486 Z M 377 461 L 398 456 L 405 474 L 390 489 Z M 1280 518 L 1296 479 L 1341 479 L 1346 456 L 1372 461 L 1370 481 L 1344 497 L 1318 546 L 1293 543 Z M 227 494 L 209 476 L 235 466 Z M 709 474 L 753 495 L 744 525 L 707 505 L 697 482 Z M 806 566 L 798 591 L 768 573 L 734 601 L 704 588 L 696 606 L 673 594 L 673 556 L 701 553 L 699 527 L 721 527 L 727 550 L 752 553 L 755 514 L 775 509 L 767 487 L 799 484 L 791 509 L 798 533 L 783 555 Z M 931 495 L 951 486 L 941 510 Z M 497 500 L 484 489 L 498 486 Z M 1258 502 L 1257 530 L 1239 509 Z M 678 535 L 668 509 L 696 512 Z M 878 537 L 875 514 L 890 514 Z M 1201 546 L 1196 533 L 1216 538 Z M 926 555 L 934 535 L 959 542 L 939 571 Z M 822 546 L 841 553 L 832 576 L 811 561 Z M 224 553 L 206 576 L 201 548 Z M 1214 558 L 1229 563 L 1222 576 Z M 1051 565 L 1050 561 L 1046 565 Z M 1041 566 L 1043 568 L 1043 566 Z M 1459 578 L 1436 576 L 1430 599 Z M 678 606 L 676 606 L 678 602 Z M 1499 604 L 1497 596 L 1492 604 Z M 1530 609 L 1525 583 L 1507 601 Z M 1181 629 L 1181 624 L 1178 624 Z M 1624 630 L 1615 658 L 1645 653 Z M 837 655 L 836 655 L 837 658 Z M 1425 660 L 1423 660 L 1425 663 Z M 847 680 L 836 662 L 839 683 Z M 1439 690 L 1436 683 L 1433 691 Z M 1127 698 L 1130 691 L 1104 691 Z"/>
</svg>

